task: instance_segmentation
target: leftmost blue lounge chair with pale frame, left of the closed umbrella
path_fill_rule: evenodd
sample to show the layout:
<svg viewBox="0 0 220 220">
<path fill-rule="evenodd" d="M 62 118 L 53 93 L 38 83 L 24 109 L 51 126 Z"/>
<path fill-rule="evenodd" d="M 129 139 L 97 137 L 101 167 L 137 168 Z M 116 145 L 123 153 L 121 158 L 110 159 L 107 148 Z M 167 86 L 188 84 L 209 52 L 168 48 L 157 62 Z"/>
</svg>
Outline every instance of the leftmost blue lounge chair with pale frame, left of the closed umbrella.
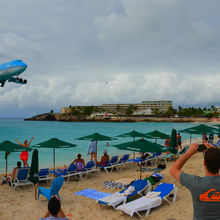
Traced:
<svg viewBox="0 0 220 220">
<path fill-rule="evenodd" d="M 33 183 L 28 180 L 29 172 L 30 167 L 18 168 L 15 180 L 11 182 L 11 187 L 15 189 L 17 186 L 33 185 Z"/>
</svg>

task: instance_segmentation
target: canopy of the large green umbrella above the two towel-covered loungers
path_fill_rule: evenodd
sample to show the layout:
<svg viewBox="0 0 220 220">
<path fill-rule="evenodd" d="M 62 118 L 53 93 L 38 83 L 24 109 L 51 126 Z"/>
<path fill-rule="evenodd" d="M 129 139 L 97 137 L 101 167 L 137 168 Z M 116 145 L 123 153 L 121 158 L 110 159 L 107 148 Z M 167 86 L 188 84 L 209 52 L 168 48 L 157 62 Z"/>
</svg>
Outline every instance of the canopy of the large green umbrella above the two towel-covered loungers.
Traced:
<svg viewBox="0 0 220 220">
<path fill-rule="evenodd" d="M 115 144 L 113 145 L 114 147 L 118 148 L 119 150 L 129 150 L 129 151 L 136 151 L 136 152 L 165 152 L 167 151 L 167 148 L 156 143 L 152 143 L 144 138 L 136 141 L 130 141 L 130 142 L 125 142 L 122 144 Z"/>
</svg>

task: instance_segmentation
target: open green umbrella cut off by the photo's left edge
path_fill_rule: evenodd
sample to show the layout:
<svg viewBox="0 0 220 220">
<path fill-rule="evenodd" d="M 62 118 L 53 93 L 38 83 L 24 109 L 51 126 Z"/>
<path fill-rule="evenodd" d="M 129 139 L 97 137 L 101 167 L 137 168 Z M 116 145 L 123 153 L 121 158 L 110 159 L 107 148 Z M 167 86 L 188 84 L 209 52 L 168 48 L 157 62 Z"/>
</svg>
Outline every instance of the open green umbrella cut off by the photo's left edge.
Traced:
<svg viewBox="0 0 220 220">
<path fill-rule="evenodd" d="M 19 144 L 12 143 L 11 141 L 3 141 L 0 143 L 0 151 L 5 152 L 5 160 L 6 160 L 6 180 L 7 180 L 7 173 L 8 173 L 8 155 L 11 152 L 22 152 L 22 151 L 32 151 L 30 147 L 23 147 Z"/>
</svg>

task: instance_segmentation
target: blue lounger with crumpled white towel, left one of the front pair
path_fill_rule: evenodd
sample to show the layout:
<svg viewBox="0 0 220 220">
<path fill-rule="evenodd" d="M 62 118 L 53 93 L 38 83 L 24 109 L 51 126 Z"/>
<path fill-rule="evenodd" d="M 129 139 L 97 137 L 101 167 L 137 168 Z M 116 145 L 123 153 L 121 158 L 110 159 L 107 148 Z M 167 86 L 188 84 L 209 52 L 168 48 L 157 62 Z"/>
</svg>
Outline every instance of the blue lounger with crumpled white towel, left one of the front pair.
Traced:
<svg viewBox="0 0 220 220">
<path fill-rule="evenodd" d="M 127 190 L 130 189 L 130 187 L 133 187 L 133 191 L 131 191 L 129 194 L 127 194 Z M 126 189 L 116 192 L 110 196 L 104 197 L 100 200 L 98 200 L 98 203 L 100 205 L 107 205 L 112 206 L 115 208 L 117 205 L 121 203 L 126 203 L 127 199 L 135 196 L 140 195 L 142 196 L 143 192 L 147 189 L 149 191 L 151 189 L 151 184 L 147 180 L 135 180 L 133 181 L 130 186 L 128 186 Z"/>
</svg>

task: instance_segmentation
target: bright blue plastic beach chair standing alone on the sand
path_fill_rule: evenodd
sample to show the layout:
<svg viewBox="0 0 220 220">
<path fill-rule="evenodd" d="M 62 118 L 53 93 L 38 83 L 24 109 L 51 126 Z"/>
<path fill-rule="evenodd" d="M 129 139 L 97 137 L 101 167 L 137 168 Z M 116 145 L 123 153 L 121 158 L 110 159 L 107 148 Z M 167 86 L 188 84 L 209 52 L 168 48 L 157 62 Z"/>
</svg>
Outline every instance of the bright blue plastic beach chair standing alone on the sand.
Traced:
<svg viewBox="0 0 220 220">
<path fill-rule="evenodd" d="M 38 187 L 38 199 L 40 197 L 40 194 L 45 196 L 48 200 L 50 200 L 51 196 L 54 196 L 54 195 L 57 195 L 58 198 L 60 198 L 58 192 L 60 188 L 62 187 L 63 182 L 64 182 L 64 178 L 62 176 L 59 176 L 53 180 L 50 189 Z"/>
</svg>

